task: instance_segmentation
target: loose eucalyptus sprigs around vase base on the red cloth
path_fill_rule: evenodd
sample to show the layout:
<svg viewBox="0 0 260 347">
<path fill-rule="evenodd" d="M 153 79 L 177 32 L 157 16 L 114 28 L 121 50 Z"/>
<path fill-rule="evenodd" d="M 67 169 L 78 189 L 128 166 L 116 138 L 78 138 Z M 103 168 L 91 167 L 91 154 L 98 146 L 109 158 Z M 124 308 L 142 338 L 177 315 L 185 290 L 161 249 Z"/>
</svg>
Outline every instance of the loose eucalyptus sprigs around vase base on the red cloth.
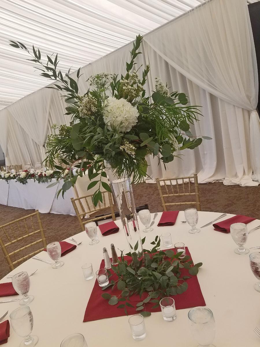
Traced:
<svg viewBox="0 0 260 347">
<path fill-rule="evenodd" d="M 144 244 L 145 238 L 142 239 Z M 180 258 L 183 252 L 174 253 L 172 249 L 167 251 L 159 251 L 161 240 L 156 236 L 151 242 L 154 247 L 148 251 L 144 249 L 144 257 L 140 259 L 141 254 L 136 253 L 138 242 L 131 247 L 132 254 L 126 255 L 132 257 L 131 263 L 124 260 L 123 251 L 117 266 L 112 265 L 111 269 L 118 276 L 118 280 L 111 280 L 110 283 L 103 287 L 102 290 L 115 286 L 121 291 L 119 296 L 103 293 L 102 297 L 107 299 L 110 305 L 117 305 L 118 308 L 124 308 L 127 314 L 127 307 L 134 307 L 131 304 L 131 296 L 138 294 L 141 298 L 144 292 L 147 297 L 137 303 L 136 311 L 143 316 L 149 316 L 151 313 L 146 311 L 145 304 L 153 303 L 152 308 L 159 306 L 159 301 L 163 297 L 182 294 L 188 289 L 188 283 L 185 280 L 190 276 L 181 276 L 181 269 L 189 270 L 191 276 L 196 276 L 202 263 L 193 264 L 189 255 Z M 139 252 L 140 253 L 140 252 Z M 110 271 L 107 270 L 109 273 Z M 111 273 L 109 277 L 113 276 Z"/>
</svg>

